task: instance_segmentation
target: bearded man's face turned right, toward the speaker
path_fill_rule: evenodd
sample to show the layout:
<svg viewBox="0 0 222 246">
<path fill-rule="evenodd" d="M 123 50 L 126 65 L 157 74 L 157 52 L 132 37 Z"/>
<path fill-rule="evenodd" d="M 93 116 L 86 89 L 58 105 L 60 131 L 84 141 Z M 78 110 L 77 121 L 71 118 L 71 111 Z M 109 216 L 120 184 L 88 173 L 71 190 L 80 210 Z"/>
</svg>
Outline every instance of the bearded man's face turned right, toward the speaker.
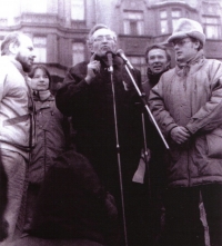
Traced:
<svg viewBox="0 0 222 246">
<path fill-rule="evenodd" d="M 36 57 L 33 53 L 33 43 L 27 36 L 21 36 L 19 40 L 20 45 L 17 48 L 16 60 L 21 63 L 24 72 L 30 72 Z"/>
</svg>

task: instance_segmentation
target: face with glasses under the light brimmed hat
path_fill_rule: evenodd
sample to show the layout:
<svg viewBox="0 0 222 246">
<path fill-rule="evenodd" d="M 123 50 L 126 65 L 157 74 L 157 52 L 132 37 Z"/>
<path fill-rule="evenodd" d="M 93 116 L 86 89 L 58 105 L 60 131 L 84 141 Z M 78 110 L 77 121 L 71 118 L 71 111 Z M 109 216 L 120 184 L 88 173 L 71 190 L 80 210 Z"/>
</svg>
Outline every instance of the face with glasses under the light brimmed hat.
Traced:
<svg viewBox="0 0 222 246">
<path fill-rule="evenodd" d="M 199 42 L 193 42 L 190 38 L 184 38 L 174 40 L 173 46 L 176 61 L 186 62 L 198 53 Z"/>
</svg>

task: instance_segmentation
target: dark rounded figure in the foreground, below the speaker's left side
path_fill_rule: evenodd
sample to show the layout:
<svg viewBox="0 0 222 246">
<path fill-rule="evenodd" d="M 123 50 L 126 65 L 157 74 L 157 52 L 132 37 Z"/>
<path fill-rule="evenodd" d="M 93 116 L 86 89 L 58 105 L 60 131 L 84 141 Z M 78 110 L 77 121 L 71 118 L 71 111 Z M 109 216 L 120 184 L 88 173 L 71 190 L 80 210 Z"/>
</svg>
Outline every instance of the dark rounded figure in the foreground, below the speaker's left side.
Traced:
<svg viewBox="0 0 222 246">
<path fill-rule="evenodd" d="M 40 190 L 31 235 L 108 243 L 117 222 L 113 197 L 89 160 L 69 150 L 50 167 Z"/>
</svg>

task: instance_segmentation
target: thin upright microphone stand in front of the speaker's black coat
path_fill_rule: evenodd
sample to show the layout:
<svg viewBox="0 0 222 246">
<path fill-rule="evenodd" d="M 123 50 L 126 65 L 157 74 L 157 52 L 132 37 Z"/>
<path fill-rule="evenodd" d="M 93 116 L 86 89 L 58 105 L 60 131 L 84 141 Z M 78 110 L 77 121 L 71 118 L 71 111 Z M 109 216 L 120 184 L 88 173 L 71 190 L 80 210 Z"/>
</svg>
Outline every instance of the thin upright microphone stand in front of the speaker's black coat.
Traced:
<svg viewBox="0 0 222 246">
<path fill-rule="evenodd" d="M 114 91 L 114 81 L 113 81 L 113 67 L 109 68 L 111 85 L 112 85 L 112 99 L 113 99 L 113 114 L 114 114 L 114 128 L 115 128 L 115 140 L 117 140 L 117 154 L 118 154 L 118 168 L 119 168 L 119 178 L 120 178 L 120 195 L 121 195 L 121 205 L 122 205 L 122 219 L 123 219 L 123 233 L 125 246 L 128 246 L 128 233 L 125 224 L 125 209 L 124 209 L 124 196 L 123 196 L 123 183 L 122 183 L 122 168 L 120 159 L 120 142 L 118 134 L 118 118 L 117 118 L 117 106 L 115 106 L 115 91 Z"/>
</svg>

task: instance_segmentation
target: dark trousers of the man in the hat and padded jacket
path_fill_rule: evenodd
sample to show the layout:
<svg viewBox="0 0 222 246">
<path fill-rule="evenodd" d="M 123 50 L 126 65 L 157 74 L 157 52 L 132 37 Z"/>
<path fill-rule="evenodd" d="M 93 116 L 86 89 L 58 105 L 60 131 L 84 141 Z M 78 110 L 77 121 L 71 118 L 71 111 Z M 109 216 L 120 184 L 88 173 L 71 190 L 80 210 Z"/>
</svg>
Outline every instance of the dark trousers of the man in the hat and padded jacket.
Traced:
<svg viewBox="0 0 222 246">
<path fill-rule="evenodd" d="M 165 193 L 164 246 L 204 246 L 200 194 L 206 213 L 211 246 L 222 245 L 222 185 L 169 188 Z"/>
</svg>

